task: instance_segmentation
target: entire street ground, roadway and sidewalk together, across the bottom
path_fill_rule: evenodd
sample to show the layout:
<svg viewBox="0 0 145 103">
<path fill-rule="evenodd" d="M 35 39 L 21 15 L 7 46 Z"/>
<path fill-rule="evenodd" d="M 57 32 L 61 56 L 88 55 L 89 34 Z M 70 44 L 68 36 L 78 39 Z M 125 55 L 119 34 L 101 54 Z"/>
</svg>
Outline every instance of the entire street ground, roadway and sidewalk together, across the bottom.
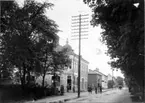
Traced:
<svg viewBox="0 0 145 103">
<path fill-rule="evenodd" d="M 77 98 L 77 93 L 65 93 L 63 96 L 50 96 L 36 101 L 27 101 L 25 103 L 143 103 L 139 101 L 132 102 L 131 95 L 127 88 L 108 89 L 102 94 L 92 94 L 82 92 L 80 98 Z"/>
</svg>

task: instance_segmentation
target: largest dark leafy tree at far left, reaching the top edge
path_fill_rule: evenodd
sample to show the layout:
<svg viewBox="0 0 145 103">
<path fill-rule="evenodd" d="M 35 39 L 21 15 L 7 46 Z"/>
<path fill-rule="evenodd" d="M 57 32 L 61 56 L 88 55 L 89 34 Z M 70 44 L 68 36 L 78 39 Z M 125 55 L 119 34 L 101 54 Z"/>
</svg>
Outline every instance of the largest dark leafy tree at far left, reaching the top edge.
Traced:
<svg viewBox="0 0 145 103">
<path fill-rule="evenodd" d="M 25 0 L 19 7 L 15 1 L 0 1 L 1 3 L 1 35 L 0 56 L 1 67 L 19 69 L 21 84 L 26 84 L 26 75 L 38 67 L 38 55 L 41 49 L 36 45 L 43 39 L 45 42 L 58 43 L 58 26 L 44 15 L 45 9 L 53 6 L 51 3 L 38 3 Z M 44 54 L 45 55 L 45 54 Z M 9 65 L 8 65 L 9 64 Z"/>
</svg>

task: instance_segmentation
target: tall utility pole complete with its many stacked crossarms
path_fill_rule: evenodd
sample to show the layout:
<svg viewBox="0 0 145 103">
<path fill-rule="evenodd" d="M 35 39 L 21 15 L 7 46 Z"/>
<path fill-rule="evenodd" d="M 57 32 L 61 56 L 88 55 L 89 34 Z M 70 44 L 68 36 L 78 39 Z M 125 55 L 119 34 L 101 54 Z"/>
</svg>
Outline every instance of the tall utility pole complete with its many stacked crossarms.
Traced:
<svg viewBox="0 0 145 103">
<path fill-rule="evenodd" d="M 88 32 L 88 26 L 89 24 L 85 24 L 85 23 L 89 23 L 88 19 L 89 19 L 89 14 L 86 15 L 77 15 L 77 16 L 72 16 L 72 35 L 71 37 L 73 37 L 72 40 L 79 40 L 79 54 L 78 54 L 78 98 L 80 97 L 80 78 L 81 78 L 81 39 L 87 39 L 87 38 L 81 38 L 82 36 L 88 36 L 88 34 L 86 34 L 86 32 Z M 83 20 L 87 20 L 87 21 L 83 21 Z M 77 25 L 76 25 L 77 24 Z M 84 28 L 82 28 L 84 27 Z M 82 31 L 82 30 L 87 30 L 87 31 Z M 74 38 L 77 37 L 77 38 Z"/>
</svg>

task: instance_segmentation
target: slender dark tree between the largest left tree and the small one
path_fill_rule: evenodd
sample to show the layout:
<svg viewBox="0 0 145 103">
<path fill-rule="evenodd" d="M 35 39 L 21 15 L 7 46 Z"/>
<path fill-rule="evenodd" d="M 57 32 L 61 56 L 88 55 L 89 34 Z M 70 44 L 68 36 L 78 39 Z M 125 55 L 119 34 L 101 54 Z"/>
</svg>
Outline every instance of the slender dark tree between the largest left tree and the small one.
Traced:
<svg viewBox="0 0 145 103">
<path fill-rule="evenodd" d="M 51 71 L 49 67 L 52 64 L 52 52 L 54 45 L 52 42 L 49 42 L 45 39 L 39 39 L 39 42 L 36 44 L 37 59 L 36 59 L 36 68 L 35 73 L 42 76 L 42 87 L 45 87 L 45 76 L 46 73 Z"/>
</svg>

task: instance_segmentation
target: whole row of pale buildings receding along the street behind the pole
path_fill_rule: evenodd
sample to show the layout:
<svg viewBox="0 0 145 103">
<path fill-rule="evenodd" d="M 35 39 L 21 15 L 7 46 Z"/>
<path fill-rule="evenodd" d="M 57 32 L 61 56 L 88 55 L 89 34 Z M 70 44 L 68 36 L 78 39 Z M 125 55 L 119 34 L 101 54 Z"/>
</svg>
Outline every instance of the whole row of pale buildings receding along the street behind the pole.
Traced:
<svg viewBox="0 0 145 103">
<path fill-rule="evenodd" d="M 65 90 L 77 91 L 78 83 L 78 58 L 79 56 L 74 53 L 71 46 L 66 43 L 65 47 L 70 49 L 69 57 L 71 59 L 71 66 L 67 67 L 63 73 L 59 75 L 58 87 L 63 85 Z M 61 48 L 61 46 L 59 47 Z M 97 86 L 98 83 L 102 85 L 102 88 L 108 88 L 108 81 L 116 81 L 116 79 L 108 74 L 105 75 L 99 71 L 99 69 L 91 70 L 88 69 L 89 62 L 81 56 L 81 68 L 80 68 L 80 90 L 87 91 L 88 85 Z M 53 83 L 53 77 L 51 75 L 46 75 L 49 84 Z"/>
</svg>

